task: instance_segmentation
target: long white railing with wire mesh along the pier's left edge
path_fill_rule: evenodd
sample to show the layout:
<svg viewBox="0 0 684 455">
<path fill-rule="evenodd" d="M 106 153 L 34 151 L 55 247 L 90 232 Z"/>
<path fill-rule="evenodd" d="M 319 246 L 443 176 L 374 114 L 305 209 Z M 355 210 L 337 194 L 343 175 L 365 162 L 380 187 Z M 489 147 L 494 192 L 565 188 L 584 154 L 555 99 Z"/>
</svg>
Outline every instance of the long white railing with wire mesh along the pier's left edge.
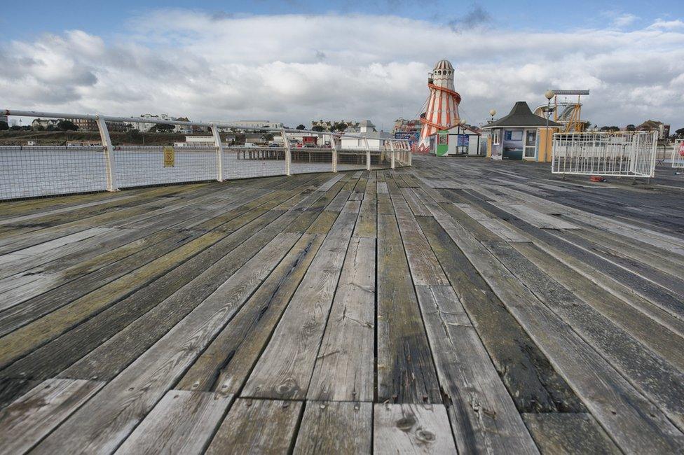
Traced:
<svg viewBox="0 0 684 455">
<path fill-rule="evenodd" d="M 371 150 L 364 134 L 238 127 L 230 124 L 145 119 L 146 123 L 207 127 L 211 139 L 183 147 L 113 146 L 107 122 L 132 123 L 137 118 L 89 116 L 34 111 L 4 111 L 8 116 L 83 118 L 97 121 L 102 146 L 0 146 L 0 200 L 151 186 L 194 181 L 224 181 L 261 176 L 395 169 L 411 165 L 407 141 L 379 139 Z M 280 134 L 280 147 L 229 147 L 219 128 Z M 329 147 L 294 147 L 289 135 L 318 134 L 331 138 Z M 362 148 L 341 148 L 341 137 L 363 139 Z M 373 138 L 378 141 L 378 138 Z M 378 143 L 376 143 L 378 144 Z"/>
</svg>

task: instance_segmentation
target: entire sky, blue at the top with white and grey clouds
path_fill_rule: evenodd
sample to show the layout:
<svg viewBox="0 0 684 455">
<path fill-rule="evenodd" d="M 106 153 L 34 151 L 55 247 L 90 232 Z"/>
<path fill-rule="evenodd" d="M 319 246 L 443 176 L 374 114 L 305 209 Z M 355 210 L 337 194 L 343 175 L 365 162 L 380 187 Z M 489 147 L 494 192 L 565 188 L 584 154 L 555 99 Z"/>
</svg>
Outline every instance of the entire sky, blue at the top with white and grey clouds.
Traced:
<svg viewBox="0 0 684 455">
<path fill-rule="evenodd" d="M 684 126 L 680 0 L 549 3 L 15 2 L 0 10 L 0 107 L 390 129 L 447 58 L 470 123 L 577 88 L 592 123 Z"/>
</svg>

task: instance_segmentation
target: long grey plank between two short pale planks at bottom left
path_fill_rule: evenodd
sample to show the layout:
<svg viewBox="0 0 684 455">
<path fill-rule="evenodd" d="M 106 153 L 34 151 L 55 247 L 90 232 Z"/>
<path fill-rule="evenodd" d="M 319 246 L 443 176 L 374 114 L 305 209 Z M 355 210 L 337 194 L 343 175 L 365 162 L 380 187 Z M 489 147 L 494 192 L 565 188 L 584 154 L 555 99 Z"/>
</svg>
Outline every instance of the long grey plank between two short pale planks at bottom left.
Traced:
<svg viewBox="0 0 684 455">
<path fill-rule="evenodd" d="M 299 236 L 282 234 L 48 436 L 39 453 L 112 451 L 200 355 Z"/>
</svg>

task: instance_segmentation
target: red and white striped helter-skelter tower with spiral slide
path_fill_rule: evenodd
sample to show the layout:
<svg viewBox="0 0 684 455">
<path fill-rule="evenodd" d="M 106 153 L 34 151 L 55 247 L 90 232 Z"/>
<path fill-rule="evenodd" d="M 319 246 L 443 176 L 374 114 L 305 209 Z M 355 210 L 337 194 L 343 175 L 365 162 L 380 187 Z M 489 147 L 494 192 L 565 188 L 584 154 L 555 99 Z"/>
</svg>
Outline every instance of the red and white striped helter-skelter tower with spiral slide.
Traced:
<svg viewBox="0 0 684 455">
<path fill-rule="evenodd" d="M 453 66 L 449 60 L 439 60 L 435 69 L 427 78 L 427 87 L 430 88 L 430 97 L 427 99 L 427 110 L 420 114 L 420 141 L 418 141 L 418 153 L 430 151 L 430 134 L 439 130 L 446 130 L 458 125 L 458 104 L 460 94 L 453 88 Z"/>
</svg>

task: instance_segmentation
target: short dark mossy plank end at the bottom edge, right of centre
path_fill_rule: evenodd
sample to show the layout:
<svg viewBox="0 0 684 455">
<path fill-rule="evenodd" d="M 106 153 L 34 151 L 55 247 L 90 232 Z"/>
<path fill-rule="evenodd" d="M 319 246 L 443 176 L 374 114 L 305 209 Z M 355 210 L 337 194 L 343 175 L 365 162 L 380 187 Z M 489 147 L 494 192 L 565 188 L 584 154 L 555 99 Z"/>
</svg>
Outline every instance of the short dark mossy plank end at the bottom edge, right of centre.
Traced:
<svg viewBox="0 0 684 455">
<path fill-rule="evenodd" d="M 621 454 L 591 414 L 522 414 L 542 455 Z"/>
</svg>

